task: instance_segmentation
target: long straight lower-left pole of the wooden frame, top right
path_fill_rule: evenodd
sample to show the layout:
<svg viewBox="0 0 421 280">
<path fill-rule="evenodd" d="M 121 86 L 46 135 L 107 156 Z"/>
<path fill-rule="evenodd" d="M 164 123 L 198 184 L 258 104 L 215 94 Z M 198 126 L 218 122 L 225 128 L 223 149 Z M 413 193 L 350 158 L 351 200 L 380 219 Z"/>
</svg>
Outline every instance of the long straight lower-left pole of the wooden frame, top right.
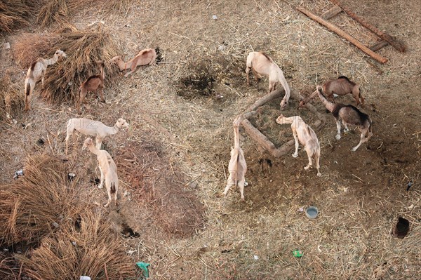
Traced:
<svg viewBox="0 0 421 280">
<path fill-rule="evenodd" d="M 370 57 L 374 58 L 378 62 L 380 62 L 380 63 L 386 63 L 387 62 L 387 58 L 384 58 L 384 57 L 382 57 L 382 55 L 379 55 L 379 54 L 371 51 L 370 48 L 367 48 L 366 46 L 361 44 L 361 42 L 358 41 L 357 39 L 355 39 L 353 36 L 347 34 L 342 29 L 336 27 L 335 25 L 331 24 L 330 22 L 327 22 L 326 20 L 323 20 L 323 18 L 320 18 L 318 15 L 314 15 L 313 13 L 311 13 L 310 11 L 308 11 L 307 9 L 302 8 L 302 7 L 298 7 L 297 10 L 300 11 L 301 13 L 304 13 L 305 15 L 307 15 L 307 17 L 311 18 L 312 20 L 315 20 L 316 22 L 319 22 L 321 25 L 324 25 L 330 31 L 335 32 L 336 34 L 338 34 L 342 38 L 347 39 L 347 41 L 349 41 L 349 43 L 354 44 L 357 48 L 361 49 L 361 51 L 370 55 Z"/>
</svg>

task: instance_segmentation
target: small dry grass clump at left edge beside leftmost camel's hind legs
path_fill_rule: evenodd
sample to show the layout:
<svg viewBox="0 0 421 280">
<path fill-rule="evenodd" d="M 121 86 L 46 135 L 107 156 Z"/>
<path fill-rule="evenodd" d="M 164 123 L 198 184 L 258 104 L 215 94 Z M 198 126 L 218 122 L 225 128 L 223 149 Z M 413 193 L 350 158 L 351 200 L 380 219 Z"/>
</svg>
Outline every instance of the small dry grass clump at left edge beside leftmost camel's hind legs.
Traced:
<svg viewBox="0 0 421 280">
<path fill-rule="evenodd" d="M 24 95 L 8 75 L 0 79 L 0 120 L 16 117 L 24 107 Z"/>
</svg>

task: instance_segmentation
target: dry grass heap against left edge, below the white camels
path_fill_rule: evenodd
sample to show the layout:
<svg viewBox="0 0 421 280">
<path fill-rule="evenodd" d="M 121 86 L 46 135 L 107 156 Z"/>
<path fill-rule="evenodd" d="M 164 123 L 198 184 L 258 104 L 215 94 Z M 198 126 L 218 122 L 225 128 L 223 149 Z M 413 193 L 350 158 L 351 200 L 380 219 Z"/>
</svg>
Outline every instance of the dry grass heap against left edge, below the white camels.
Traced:
<svg viewBox="0 0 421 280">
<path fill-rule="evenodd" d="M 39 244 L 66 219 L 74 218 L 82 205 L 75 204 L 76 180 L 69 182 L 70 164 L 48 155 L 28 156 L 25 175 L 0 186 L 0 244 Z M 74 204 L 74 205 L 72 205 Z"/>
</svg>

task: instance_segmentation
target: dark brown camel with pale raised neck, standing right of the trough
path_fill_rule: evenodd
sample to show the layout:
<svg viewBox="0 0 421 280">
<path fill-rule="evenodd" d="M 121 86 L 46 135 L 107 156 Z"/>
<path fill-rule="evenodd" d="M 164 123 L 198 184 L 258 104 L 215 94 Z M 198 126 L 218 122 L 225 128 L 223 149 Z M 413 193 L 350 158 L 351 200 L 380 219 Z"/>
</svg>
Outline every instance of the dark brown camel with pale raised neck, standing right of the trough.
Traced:
<svg viewBox="0 0 421 280">
<path fill-rule="evenodd" d="M 338 134 L 335 136 L 336 140 L 340 140 L 340 120 L 342 119 L 342 124 L 345 126 L 344 133 L 348 132 L 348 124 L 358 126 L 359 131 L 361 132 L 360 142 L 358 145 L 353 147 L 351 150 L 355 152 L 356 149 L 363 144 L 363 142 L 367 142 L 373 133 L 371 132 L 371 119 L 368 114 L 364 114 L 359 109 L 352 105 L 343 105 L 341 103 L 333 103 L 330 102 L 325 95 L 323 95 L 321 91 L 321 86 L 317 86 L 317 94 L 323 105 L 325 105 L 326 109 L 328 109 L 336 120 L 336 128 L 338 128 Z M 368 133 L 368 137 L 366 137 Z"/>
</svg>

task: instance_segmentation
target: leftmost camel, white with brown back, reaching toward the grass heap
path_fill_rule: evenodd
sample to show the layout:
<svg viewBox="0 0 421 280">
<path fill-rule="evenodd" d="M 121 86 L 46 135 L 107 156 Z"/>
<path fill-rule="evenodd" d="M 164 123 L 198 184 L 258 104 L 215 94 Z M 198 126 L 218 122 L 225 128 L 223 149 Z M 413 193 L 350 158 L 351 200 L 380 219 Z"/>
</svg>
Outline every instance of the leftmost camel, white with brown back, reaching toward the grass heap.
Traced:
<svg viewBox="0 0 421 280">
<path fill-rule="evenodd" d="M 25 110 L 28 111 L 31 109 L 31 98 L 35 84 L 37 81 L 41 80 L 42 86 L 44 87 L 44 80 L 46 76 L 47 66 L 53 65 L 57 62 L 58 58 L 62 56 L 63 58 L 67 58 L 67 55 L 64 51 L 58 49 L 55 51 L 53 58 L 44 59 L 38 58 L 34 63 L 32 63 L 31 67 L 29 67 L 27 71 L 27 75 L 25 77 Z"/>
</svg>

